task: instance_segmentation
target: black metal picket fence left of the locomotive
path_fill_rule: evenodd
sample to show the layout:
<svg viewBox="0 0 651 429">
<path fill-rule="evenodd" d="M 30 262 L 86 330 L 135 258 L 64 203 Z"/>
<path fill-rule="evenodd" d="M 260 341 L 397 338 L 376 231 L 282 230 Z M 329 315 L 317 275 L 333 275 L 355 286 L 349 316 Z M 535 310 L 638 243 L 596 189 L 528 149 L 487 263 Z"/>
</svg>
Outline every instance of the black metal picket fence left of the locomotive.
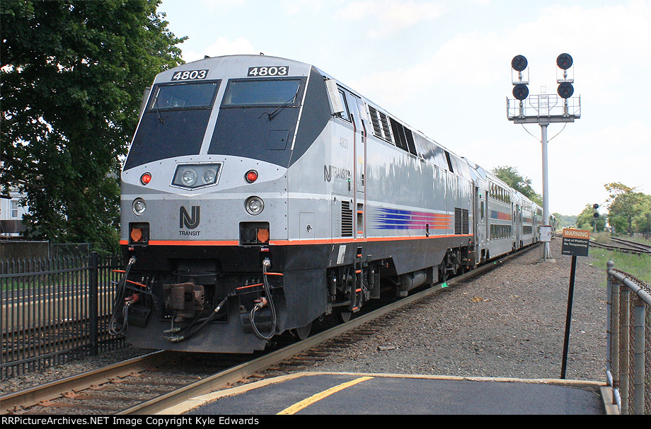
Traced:
<svg viewBox="0 0 651 429">
<path fill-rule="evenodd" d="M 124 347 L 108 333 L 120 258 L 0 261 L 0 379 Z"/>
</svg>

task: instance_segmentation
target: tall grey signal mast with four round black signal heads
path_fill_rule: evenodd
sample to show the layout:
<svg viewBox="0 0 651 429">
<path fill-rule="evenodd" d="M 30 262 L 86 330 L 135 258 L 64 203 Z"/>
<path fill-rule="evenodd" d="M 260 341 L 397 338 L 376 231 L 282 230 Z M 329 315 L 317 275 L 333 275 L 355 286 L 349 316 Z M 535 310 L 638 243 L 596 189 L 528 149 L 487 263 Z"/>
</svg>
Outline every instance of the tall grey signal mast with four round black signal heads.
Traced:
<svg viewBox="0 0 651 429">
<path fill-rule="evenodd" d="M 514 124 L 538 124 L 541 127 L 541 144 L 543 151 L 543 226 L 551 229 L 549 224 L 549 181 L 547 159 L 547 126 L 555 122 L 574 122 L 581 118 L 581 97 L 572 97 L 574 93 L 572 57 L 560 54 L 556 58 L 558 96 L 548 93 L 529 94 L 529 69 L 526 58 L 516 55 L 511 61 L 511 81 L 514 99 L 507 97 L 507 118 Z M 572 74 L 570 76 L 570 69 Z M 517 80 L 514 79 L 517 71 Z M 525 77 L 526 71 L 526 77 Z M 558 73 L 561 76 L 558 77 Z M 551 258 L 549 241 L 544 241 L 543 259 Z"/>
</svg>

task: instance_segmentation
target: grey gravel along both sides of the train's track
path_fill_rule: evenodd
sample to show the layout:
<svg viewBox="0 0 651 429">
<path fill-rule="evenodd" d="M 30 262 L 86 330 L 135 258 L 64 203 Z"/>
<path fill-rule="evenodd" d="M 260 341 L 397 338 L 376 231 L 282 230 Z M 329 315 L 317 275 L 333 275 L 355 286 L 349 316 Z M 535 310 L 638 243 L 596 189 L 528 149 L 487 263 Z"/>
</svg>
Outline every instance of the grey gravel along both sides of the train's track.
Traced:
<svg viewBox="0 0 651 429">
<path fill-rule="evenodd" d="M 538 247 L 494 270 L 395 311 L 383 331 L 311 371 L 560 378 L 570 256 Z M 591 251 L 594 251 L 591 249 Z M 605 381 L 606 273 L 577 257 L 566 378 Z M 105 353 L 0 382 L 3 394 L 94 370 L 151 350 Z"/>
</svg>

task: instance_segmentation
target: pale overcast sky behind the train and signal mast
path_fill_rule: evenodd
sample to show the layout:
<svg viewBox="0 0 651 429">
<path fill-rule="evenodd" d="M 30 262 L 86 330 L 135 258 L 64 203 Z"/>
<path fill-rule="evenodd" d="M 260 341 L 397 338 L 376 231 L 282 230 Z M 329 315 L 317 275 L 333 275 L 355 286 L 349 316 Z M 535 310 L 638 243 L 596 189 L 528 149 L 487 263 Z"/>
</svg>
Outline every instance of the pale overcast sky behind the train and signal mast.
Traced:
<svg viewBox="0 0 651 429">
<path fill-rule="evenodd" d="M 580 119 L 548 127 L 549 209 L 651 193 L 651 0 L 163 0 L 186 62 L 234 54 L 313 64 L 486 169 L 542 193 L 541 127 L 507 120 L 511 59 L 529 93 L 556 94 L 567 52 Z M 517 79 L 517 77 L 516 77 Z M 601 210 L 601 212 L 605 212 Z"/>
</svg>

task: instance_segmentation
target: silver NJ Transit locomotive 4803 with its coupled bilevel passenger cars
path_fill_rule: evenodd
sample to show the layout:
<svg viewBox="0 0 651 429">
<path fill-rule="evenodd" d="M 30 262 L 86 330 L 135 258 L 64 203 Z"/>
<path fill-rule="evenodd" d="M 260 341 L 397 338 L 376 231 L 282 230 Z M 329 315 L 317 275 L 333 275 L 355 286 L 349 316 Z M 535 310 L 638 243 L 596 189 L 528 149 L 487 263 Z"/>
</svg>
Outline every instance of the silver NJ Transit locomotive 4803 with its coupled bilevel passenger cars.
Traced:
<svg viewBox="0 0 651 429">
<path fill-rule="evenodd" d="M 253 353 L 535 243 L 541 210 L 309 64 L 237 55 L 163 71 L 122 171 L 113 331 Z M 392 292 L 393 293 L 393 292 Z"/>
</svg>

